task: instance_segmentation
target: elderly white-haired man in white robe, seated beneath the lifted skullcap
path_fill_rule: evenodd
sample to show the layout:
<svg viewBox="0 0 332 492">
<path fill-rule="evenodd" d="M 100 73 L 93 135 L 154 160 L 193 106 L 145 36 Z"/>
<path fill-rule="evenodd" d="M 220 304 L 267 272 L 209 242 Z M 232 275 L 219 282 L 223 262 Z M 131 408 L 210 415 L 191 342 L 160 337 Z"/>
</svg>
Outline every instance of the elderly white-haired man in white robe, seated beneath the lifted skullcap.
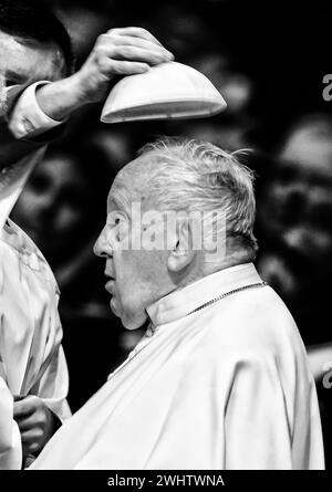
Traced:
<svg viewBox="0 0 332 492">
<path fill-rule="evenodd" d="M 32 468 L 323 468 L 305 350 L 252 264 L 253 220 L 252 174 L 210 144 L 160 142 L 120 171 L 95 252 L 123 325 L 151 323 Z"/>
</svg>

